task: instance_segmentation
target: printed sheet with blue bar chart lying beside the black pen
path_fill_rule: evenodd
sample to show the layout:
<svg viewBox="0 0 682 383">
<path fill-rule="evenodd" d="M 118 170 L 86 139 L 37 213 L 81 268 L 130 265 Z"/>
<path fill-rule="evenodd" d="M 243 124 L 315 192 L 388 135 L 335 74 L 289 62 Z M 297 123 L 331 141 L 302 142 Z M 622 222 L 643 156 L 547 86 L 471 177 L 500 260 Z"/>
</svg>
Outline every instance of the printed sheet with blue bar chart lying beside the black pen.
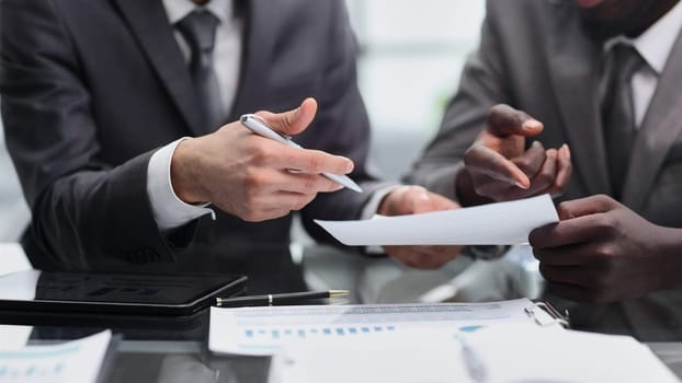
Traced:
<svg viewBox="0 0 682 383">
<path fill-rule="evenodd" d="M 552 323 L 543 311 L 532 317 L 527 299 L 487 303 L 417 303 L 370 305 L 307 305 L 211 307 L 208 348 L 214 352 L 273 355 L 292 341 L 315 344 L 334 338 L 353 343 L 376 334 L 413 328 L 475 329 L 499 323 Z M 544 315 L 544 316 L 543 316 Z"/>
</svg>

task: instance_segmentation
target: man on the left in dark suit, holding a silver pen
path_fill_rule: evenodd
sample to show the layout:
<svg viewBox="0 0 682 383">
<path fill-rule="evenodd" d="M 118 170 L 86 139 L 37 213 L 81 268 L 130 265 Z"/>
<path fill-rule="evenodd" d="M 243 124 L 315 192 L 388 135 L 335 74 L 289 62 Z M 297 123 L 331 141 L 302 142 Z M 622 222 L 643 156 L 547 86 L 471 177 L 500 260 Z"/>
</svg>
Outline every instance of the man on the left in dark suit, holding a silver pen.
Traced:
<svg viewBox="0 0 682 383">
<path fill-rule="evenodd" d="M 456 208 L 423 188 L 386 188 L 367 169 L 342 1 L 0 4 L 2 117 L 37 268 L 236 272 L 252 292 L 300 290 L 292 210 L 331 241 L 314 218 Z M 293 109 L 261 116 L 320 151 L 224 125 L 262 109 Z M 365 193 L 322 172 L 349 173 Z M 389 251 L 422 267 L 458 253 Z"/>
</svg>

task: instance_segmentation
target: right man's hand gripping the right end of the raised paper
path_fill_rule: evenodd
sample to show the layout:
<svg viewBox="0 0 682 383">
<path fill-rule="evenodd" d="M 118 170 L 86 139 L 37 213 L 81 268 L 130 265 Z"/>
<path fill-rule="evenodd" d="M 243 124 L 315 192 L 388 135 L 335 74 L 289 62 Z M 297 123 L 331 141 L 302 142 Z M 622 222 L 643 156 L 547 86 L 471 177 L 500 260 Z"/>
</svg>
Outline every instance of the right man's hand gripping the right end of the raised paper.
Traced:
<svg viewBox="0 0 682 383">
<path fill-rule="evenodd" d="M 558 213 L 560 222 L 528 239 L 557 295 L 605 303 L 679 285 L 679 230 L 652 224 L 603 195 L 564 202 Z"/>
</svg>

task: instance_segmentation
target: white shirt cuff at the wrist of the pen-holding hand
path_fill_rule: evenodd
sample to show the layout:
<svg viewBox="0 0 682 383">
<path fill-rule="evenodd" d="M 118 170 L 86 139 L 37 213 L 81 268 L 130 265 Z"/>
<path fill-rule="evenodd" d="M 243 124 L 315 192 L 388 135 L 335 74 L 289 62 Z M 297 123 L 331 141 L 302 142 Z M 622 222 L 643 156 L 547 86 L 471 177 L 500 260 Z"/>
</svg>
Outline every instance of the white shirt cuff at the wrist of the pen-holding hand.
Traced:
<svg viewBox="0 0 682 383">
<path fill-rule="evenodd" d="M 216 219 L 215 211 L 205 205 L 190 205 L 175 195 L 171 183 L 170 166 L 175 148 L 189 137 L 183 137 L 159 149 L 151 155 L 147 167 L 147 194 L 151 204 L 151 213 L 161 232 L 182 227 L 202 216 L 211 214 Z"/>
</svg>

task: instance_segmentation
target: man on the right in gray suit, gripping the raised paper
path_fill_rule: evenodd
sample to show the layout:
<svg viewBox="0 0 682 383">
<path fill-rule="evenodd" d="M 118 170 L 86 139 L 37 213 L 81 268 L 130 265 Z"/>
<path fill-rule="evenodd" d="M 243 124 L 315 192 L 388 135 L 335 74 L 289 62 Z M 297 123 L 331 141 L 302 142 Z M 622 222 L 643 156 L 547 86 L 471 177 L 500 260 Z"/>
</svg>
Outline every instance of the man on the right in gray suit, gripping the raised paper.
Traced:
<svg viewBox="0 0 682 383">
<path fill-rule="evenodd" d="M 410 181 L 462 205 L 557 196 L 561 222 L 530 242 L 548 291 L 590 303 L 575 325 L 682 338 L 682 4 L 487 4 Z"/>
</svg>

